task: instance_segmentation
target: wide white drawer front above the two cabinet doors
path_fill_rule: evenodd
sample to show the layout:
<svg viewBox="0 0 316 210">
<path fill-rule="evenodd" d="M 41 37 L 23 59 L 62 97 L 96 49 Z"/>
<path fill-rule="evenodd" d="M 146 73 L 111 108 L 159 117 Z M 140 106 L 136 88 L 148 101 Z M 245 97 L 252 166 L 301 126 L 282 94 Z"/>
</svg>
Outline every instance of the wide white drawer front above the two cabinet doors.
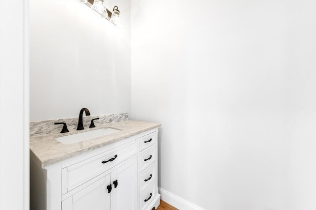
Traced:
<svg viewBox="0 0 316 210">
<path fill-rule="evenodd" d="M 62 183 L 67 185 L 67 190 L 63 190 L 62 194 L 116 166 L 136 152 L 137 144 L 134 140 L 62 169 Z"/>
</svg>

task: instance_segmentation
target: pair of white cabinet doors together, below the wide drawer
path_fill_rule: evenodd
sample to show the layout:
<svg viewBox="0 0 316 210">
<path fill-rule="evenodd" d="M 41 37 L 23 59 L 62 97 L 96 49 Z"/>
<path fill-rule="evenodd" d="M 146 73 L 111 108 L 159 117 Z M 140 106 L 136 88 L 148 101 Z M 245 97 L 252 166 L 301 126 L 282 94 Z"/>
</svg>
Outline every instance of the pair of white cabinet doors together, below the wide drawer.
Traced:
<svg viewBox="0 0 316 210">
<path fill-rule="evenodd" d="M 62 196 L 62 210 L 137 210 L 137 157 Z M 66 199 L 65 199 L 66 198 Z"/>
</svg>

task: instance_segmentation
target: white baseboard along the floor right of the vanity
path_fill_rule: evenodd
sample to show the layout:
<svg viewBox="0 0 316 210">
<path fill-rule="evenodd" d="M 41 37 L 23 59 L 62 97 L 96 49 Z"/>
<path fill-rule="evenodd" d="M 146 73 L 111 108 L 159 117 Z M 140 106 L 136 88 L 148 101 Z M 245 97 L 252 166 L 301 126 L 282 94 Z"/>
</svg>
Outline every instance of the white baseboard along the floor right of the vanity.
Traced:
<svg viewBox="0 0 316 210">
<path fill-rule="evenodd" d="M 165 201 L 166 203 L 170 204 L 171 206 L 174 206 L 179 210 L 204 210 L 198 207 L 197 205 L 190 203 L 189 201 L 184 200 L 183 198 L 180 198 L 179 196 L 172 194 L 171 192 L 168 192 L 167 190 L 164 190 L 160 187 L 158 187 L 158 191 L 161 195 L 161 200 Z"/>
</svg>

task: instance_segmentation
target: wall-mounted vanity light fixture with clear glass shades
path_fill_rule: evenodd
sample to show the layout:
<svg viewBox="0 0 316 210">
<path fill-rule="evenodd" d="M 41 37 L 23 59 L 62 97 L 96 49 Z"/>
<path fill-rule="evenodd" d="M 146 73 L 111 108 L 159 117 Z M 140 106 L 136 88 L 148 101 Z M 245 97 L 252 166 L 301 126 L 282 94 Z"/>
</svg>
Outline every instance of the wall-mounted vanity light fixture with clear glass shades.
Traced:
<svg viewBox="0 0 316 210">
<path fill-rule="evenodd" d="M 105 0 L 78 0 L 78 2 L 85 3 L 87 6 L 91 7 L 91 10 L 95 15 L 107 19 L 114 27 L 122 27 L 118 6 L 114 6 L 113 11 L 111 12 L 107 9 Z"/>
</svg>

